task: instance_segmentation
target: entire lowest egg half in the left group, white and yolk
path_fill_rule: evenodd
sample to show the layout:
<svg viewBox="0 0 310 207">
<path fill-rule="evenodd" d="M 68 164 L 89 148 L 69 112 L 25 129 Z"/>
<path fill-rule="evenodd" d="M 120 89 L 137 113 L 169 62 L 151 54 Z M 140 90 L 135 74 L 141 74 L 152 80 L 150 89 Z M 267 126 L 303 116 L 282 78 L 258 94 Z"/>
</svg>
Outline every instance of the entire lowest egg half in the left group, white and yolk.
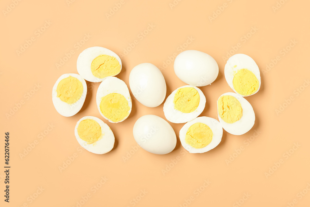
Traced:
<svg viewBox="0 0 310 207">
<path fill-rule="evenodd" d="M 94 116 L 84 116 L 74 129 L 78 143 L 87 151 L 105 154 L 113 149 L 115 138 L 110 127 Z"/>
</svg>

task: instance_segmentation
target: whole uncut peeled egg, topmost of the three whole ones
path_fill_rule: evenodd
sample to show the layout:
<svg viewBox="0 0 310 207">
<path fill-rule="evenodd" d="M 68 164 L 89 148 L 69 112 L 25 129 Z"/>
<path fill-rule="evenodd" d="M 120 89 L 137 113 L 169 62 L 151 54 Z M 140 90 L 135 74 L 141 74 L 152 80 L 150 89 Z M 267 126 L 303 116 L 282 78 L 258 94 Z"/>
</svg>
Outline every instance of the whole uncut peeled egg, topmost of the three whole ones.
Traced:
<svg viewBox="0 0 310 207">
<path fill-rule="evenodd" d="M 175 58 L 175 74 L 192 86 L 211 84 L 219 74 L 219 65 L 210 55 L 197 50 L 186 50 Z"/>
</svg>

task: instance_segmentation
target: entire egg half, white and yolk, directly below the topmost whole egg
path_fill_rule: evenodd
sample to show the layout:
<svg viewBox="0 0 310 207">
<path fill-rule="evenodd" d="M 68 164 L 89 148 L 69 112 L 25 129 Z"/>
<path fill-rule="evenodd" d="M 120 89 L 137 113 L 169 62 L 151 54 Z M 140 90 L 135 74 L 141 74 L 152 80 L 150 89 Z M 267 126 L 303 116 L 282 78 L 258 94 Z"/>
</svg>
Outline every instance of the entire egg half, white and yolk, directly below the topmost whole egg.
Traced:
<svg viewBox="0 0 310 207">
<path fill-rule="evenodd" d="M 195 86 L 182 86 L 172 92 L 164 103 L 164 114 L 172 123 L 185 123 L 201 114 L 206 106 L 206 97 Z"/>
</svg>

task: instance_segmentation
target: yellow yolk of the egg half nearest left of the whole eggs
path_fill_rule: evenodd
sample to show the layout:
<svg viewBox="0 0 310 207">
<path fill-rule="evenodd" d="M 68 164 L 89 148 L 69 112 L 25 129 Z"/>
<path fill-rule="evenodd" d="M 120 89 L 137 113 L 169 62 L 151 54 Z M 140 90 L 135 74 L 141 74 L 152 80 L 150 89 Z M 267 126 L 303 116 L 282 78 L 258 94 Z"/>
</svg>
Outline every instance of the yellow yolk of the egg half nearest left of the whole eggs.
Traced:
<svg viewBox="0 0 310 207">
<path fill-rule="evenodd" d="M 102 97 L 100 102 L 101 113 L 113 122 L 118 122 L 128 115 L 130 107 L 126 98 L 119 93 L 110 93 Z"/>
</svg>

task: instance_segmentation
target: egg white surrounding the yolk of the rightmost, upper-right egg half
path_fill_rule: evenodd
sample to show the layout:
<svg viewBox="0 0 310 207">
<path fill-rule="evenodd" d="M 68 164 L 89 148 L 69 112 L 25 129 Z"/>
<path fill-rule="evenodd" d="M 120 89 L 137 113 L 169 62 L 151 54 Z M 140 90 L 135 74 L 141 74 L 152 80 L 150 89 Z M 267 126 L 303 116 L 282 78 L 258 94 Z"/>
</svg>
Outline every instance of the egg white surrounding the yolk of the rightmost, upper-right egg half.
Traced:
<svg viewBox="0 0 310 207">
<path fill-rule="evenodd" d="M 258 79 L 259 87 L 256 90 L 256 92 L 254 92 L 253 94 L 257 93 L 259 91 L 260 84 L 261 84 L 260 71 L 255 61 L 250 56 L 247 56 L 245 54 L 235 54 L 231 56 L 225 65 L 224 74 L 225 74 L 225 79 L 229 87 L 232 88 L 234 92 L 238 93 L 233 87 L 232 81 L 233 81 L 235 74 L 238 72 L 238 70 L 241 70 L 241 69 L 247 69 L 247 70 L 250 70 L 252 73 L 254 73 L 254 75 Z M 251 95 L 248 95 L 248 96 L 251 96 Z M 246 97 L 246 96 L 243 96 L 243 97 Z"/>
</svg>

